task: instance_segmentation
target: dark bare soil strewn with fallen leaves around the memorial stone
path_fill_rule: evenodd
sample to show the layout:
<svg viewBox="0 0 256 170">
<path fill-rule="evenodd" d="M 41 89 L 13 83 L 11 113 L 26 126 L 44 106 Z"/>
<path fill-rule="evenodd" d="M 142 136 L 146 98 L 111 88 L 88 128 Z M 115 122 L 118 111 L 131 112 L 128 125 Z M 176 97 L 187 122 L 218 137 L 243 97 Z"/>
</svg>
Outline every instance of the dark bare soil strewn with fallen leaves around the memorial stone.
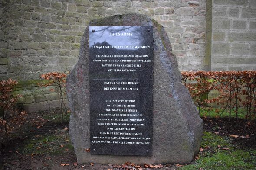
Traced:
<svg viewBox="0 0 256 170">
<path fill-rule="evenodd" d="M 1 170 L 129 170 L 131 165 L 127 164 L 122 168 L 121 165 L 102 165 L 102 164 L 79 164 L 75 165 L 76 156 L 72 148 L 66 148 L 59 154 L 52 154 L 51 148 L 44 150 L 41 154 L 24 153 L 28 140 L 37 140 L 38 137 L 44 135 L 62 136 L 62 141 L 54 141 L 47 143 L 48 145 L 62 146 L 68 145 L 69 141 L 69 123 L 63 124 L 52 120 L 43 119 L 47 113 L 34 113 L 28 115 L 26 122 L 13 132 L 9 143 L 5 141 L 3 135 L 0 135 L 0 169 Z M 246 120 L 239 119 L 228 121 L 226 118 L 208 119 L 203 118 L 204 130 L 215 132 L 217 135 L 230 136 L 237 135 L 232 142 L 237 147 L 256 148 L 256 128 L 249 125 Z M 66 142 L 66 143 L 65 143 Z M 34 143 L 37 144 L 36 142 Z M 35 147 L 40 147 L 38 146 Z M 54 147 L 54 146 L 53 146 Z M 64 147 L 65 148 L 65 147 Z M 39 148 L 42 149 L 42 148 Z M 32 151 L 31 151 L 32 152 Z M 61 164 L 69 164 L 61 166 Z M 162 168 L 156 170 L 176 170 L 177 165 L 163 165 Z M 153 168 L 141 165 L 142 170 L 151 170 Z"/>
</svg>

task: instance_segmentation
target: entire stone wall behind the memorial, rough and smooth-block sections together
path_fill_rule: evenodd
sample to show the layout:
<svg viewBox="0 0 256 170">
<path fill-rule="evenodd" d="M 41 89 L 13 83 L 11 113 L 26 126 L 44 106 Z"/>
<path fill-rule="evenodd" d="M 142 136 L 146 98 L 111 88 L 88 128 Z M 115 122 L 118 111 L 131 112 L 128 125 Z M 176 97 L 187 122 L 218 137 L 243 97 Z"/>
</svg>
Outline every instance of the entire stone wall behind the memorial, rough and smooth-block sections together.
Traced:
<svg viewBox="0 0 256 170">
<path fill-rule="evenodd" d="M 0 80 L 29 111 L 57 106 L 40 74 L 72 70 L 89 20 L 132 12 L 165 27 L 181 71 L 256 69 L 256 0 L 0 0 Z"/>
</svg>

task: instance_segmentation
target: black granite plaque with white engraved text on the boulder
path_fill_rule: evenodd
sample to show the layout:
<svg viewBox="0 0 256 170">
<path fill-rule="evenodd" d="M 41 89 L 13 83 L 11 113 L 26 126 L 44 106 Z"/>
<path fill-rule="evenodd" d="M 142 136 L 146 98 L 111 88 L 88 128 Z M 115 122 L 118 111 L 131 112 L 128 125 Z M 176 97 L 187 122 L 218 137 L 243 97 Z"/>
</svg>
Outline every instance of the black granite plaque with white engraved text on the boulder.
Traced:
<svg viewBox="0 0 256 170">
<path fill-rule="evenodd" d="M 152 154 L 152 26 L 90 26 L 91 154 Z"/>
</svg>

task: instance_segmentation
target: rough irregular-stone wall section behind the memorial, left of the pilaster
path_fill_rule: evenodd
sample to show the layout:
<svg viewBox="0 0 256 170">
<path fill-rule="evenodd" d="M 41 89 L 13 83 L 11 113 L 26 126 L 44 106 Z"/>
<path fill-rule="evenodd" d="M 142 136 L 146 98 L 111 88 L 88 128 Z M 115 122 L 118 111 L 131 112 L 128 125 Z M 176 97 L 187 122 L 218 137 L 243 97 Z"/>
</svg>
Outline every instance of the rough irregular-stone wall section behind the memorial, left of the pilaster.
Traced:
<svg viewBox="0 0 256 170">
<path fill-rule="evenodd" d="M 205 0 L 0 0 L 0 80 L 20 80 L 20 103 L 30 112 L 58 106 L 37 87 L 40 74 L 70 71 L 89 20 L 143 13 L 162 24 L 180 70 L 205 67 Z"/>
</svg>

